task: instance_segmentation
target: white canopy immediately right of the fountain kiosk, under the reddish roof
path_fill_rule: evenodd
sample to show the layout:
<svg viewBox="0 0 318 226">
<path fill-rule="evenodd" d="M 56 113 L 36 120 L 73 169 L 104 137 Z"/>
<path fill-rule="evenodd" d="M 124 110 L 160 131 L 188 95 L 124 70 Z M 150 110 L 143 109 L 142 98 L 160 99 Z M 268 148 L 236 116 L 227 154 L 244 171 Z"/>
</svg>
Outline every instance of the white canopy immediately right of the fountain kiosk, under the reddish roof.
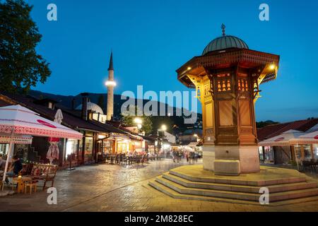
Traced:
<svg viewBox="0 0 318 226">
<path fill-rule="evenodd" d="M 291 139 L 297 138 L 298 136 L 301 136 L 303 134 L 305 133 L 302 131 L 290 129 L 278 136 L 274 136 L 272 138 L 259 142 L 259 146 L 289 146 L 291 145 Z"/>
</svg>

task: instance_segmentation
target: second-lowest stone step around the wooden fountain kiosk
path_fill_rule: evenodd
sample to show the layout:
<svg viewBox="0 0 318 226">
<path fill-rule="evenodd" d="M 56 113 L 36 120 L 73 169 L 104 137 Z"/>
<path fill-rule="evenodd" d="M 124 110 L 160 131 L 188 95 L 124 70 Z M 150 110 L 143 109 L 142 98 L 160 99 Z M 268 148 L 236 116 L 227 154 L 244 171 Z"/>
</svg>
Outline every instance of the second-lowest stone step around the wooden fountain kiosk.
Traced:
<svg viewBox="0 0 318 226">
<path fill-rule="evenodd" d="M 239 199 L 244 201 L 255 201 L 259 202 L 260 194 L 236 192 L 236 191 L 220 191 L 211 189 L 194 189 L 187 188 L 181 184 L 177 184 L 168 179 L 159 176 L 155 178 L 155 181 L 167 186 L 168 188 L 177 191 L 179 194 L 195 195 L 195 196 L 212 196 L 216 198 L 229 198 Z M 315 189 L 302 189 L 300 191 L 283 191 L 269 195 L 269 201 L 283 201 L 293 198 L 305 198 L 310 196 L 318 196 L 318 188 Z"/>
</svg>

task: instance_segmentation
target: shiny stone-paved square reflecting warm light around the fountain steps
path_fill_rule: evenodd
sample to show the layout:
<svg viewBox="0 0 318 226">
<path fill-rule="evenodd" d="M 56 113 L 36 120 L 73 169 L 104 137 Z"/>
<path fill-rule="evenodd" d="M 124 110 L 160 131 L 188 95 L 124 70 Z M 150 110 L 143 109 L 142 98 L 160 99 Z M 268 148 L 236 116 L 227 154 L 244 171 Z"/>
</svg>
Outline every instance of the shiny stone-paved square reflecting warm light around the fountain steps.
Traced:
<svg viewBox="0 0 318 226">
<path fill-rule="evenodd" d="M 198 163 L 201 163 L 200 161 Z M 148 186 L 148 179 L 187 164 L 161 160 L 144 165 L 88 165 L 59 171 L 58 204 L 45 191 L 0 198 L 0 211 L 318 211 L 318 202 L 266 207 L 170 198 Z"/>
</svg>

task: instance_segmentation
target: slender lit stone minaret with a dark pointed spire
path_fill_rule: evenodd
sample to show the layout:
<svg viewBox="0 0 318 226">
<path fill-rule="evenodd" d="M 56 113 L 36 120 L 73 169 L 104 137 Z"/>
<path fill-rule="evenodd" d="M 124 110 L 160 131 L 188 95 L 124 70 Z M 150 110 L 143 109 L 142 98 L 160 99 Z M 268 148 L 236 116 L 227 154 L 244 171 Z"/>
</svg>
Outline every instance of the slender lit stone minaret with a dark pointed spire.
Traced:
<svg viewBox="0 0 318 226">
<path fill-rule="evenodd" d="M 105 84 L 107 86 L 107 121 L 112 119 L 114 114 L 114 66 L 112 64 L 112 53 L 110 54 L 110 66 L 108 67 L 108 80 Z"/>
</svg>

